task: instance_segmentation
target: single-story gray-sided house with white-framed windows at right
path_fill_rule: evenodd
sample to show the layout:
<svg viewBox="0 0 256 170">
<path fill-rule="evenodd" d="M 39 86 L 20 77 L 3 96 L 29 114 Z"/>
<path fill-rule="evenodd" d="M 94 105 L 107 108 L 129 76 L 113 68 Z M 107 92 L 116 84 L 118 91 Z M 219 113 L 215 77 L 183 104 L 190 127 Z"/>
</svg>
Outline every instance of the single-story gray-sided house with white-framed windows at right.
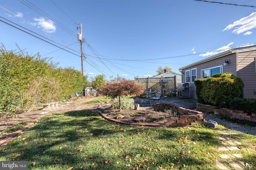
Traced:
<svg viewBox="0 0 256 170">
<path fill-rule="evenodd" d="M 256 46 L 233 48 L 180 68 L 182 83 L 189 84 L 189 97 L 196 99 L 194 79 L 231 72 L 244 82 L 244 98 L 256 98 Z"/>
</svg>

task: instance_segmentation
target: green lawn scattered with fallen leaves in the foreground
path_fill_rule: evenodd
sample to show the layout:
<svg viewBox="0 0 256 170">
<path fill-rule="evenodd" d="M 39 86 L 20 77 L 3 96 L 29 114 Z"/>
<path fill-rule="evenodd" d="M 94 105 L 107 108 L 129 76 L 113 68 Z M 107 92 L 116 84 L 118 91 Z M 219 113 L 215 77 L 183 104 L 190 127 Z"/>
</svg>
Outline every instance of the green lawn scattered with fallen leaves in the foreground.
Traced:
<svg viewBox="0 0 256 170">
<path fill-rule="evenodd" d="M 217 170 L 215 160 L 223 162 L 218 137 L 230 133 L 218 127 L 126 126 L 110 123 L 95 111 L 55 113 L 0 147 L 0 160 L 27 160 L 29 170 Z M 242 143 L 239 160 L 255 168 L 255 136 L 234 136 Z"/>
</svg>

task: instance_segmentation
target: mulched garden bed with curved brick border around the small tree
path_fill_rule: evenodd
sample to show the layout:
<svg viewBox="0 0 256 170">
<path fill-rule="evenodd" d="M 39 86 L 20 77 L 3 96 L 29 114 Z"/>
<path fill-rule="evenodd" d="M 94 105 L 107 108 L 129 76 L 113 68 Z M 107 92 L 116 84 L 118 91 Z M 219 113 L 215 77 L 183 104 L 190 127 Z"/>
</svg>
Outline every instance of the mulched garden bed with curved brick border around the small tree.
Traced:
<svg viewBox="0 0 256 170">
<path fill-rule="evenodd" d="M 168 109 L 169 108 L 169 109 Z M 140 121 L 140 125 L 154 124 L 163 127 L 184 127 L 191 126 L 205 121 L 204 113 L 200 111 L 185 109 L 172 104 L 156 104 L 153 107 L 140 107 L 140 110 L 134 109 L 98 109 L 103 117 L 110 121 L 119 123 L 138 123 L 136 119 L 145 118 Z"/>
</svg>

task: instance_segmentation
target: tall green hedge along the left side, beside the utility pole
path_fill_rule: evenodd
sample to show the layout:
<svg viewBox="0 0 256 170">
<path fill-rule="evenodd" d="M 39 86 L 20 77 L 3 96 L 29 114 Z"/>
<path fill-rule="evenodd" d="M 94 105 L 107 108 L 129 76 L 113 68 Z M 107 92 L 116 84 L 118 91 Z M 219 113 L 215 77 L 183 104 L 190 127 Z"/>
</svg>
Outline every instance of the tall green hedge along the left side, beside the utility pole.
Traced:
<svg viewBox="0 0 256 170">
<path fill-rule="evenodd" d="M 0 47 L 0 116 L 29 111 L 41 103 L 65 101 L 83 92 L 87 76 L 74 68 L 57 68 L 51 59 Z"/>
</svg>

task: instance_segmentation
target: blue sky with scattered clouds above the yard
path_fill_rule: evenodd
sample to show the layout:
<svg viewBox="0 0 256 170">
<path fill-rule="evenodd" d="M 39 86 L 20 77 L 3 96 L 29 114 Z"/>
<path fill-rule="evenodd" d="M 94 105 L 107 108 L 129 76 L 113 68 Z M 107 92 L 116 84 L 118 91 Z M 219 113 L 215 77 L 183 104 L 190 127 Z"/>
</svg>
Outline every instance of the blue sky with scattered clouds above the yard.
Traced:
<svg viewBox="0 0 256 170">
<path fill-rule="evenodd" d="M 251 0 L 215 2 L 256 6 Z M 196 0 L 1 0 L 0 43 L 81 70 L 77 27 L 82 23 L 84 74 L 133 80 L 156 75 L 159 66 L 179 73 L 229 48 L 254 45 L 256 8 L 247 6 Z"/>
</svg>

